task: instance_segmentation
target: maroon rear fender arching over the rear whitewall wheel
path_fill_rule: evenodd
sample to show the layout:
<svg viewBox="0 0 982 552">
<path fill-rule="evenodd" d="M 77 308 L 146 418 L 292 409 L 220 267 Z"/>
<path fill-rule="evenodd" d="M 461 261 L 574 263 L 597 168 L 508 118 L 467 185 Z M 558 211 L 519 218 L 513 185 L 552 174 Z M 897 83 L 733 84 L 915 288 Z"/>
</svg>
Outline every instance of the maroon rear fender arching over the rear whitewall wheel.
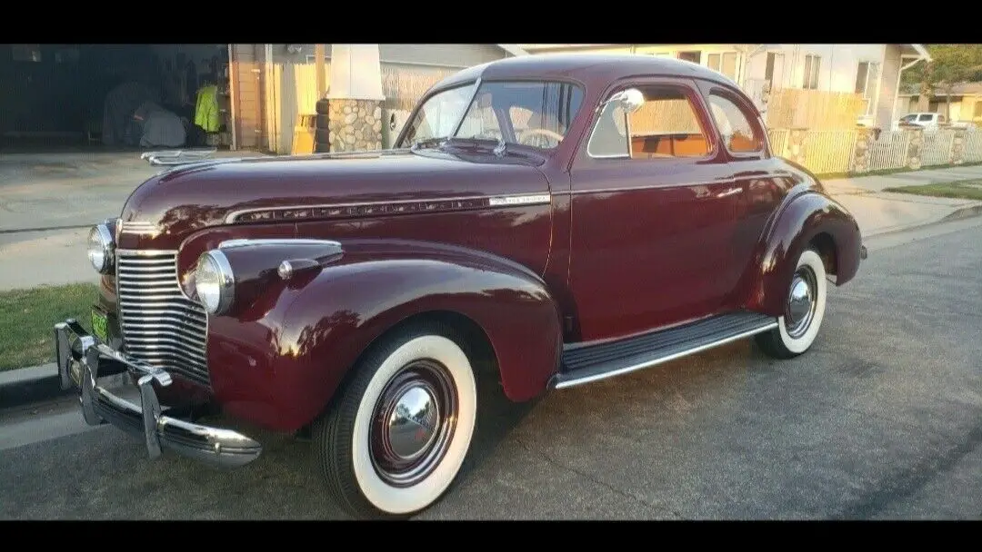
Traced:
<svg viewBox="0 0 982 552">
<path fill-rule="evenodd" d="M 818 190 L 791 193 L 762 236 L 749 278 L 749 310 L 774 317 L 784 315 L 797 259 L 819 234 L 827 234 L 834 246 L 836 284 L 842 285 L 856 275 L 862 236 L 852 215 Z"/>
</svg>

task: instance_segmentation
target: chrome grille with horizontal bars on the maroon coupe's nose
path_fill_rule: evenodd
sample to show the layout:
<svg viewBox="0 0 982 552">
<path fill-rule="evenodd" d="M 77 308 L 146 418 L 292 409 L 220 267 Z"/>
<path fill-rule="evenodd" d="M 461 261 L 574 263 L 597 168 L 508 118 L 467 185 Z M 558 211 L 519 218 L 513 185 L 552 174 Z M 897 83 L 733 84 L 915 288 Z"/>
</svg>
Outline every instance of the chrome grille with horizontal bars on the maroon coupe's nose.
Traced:
<svg viewBox="0 0 982 552">
<path fill-rule="evenodd" d="M 178 282 L 176 251 L 118 251 L 116 290 L 128 354 L 210 385 L 208 317 Z"/>
</svg>

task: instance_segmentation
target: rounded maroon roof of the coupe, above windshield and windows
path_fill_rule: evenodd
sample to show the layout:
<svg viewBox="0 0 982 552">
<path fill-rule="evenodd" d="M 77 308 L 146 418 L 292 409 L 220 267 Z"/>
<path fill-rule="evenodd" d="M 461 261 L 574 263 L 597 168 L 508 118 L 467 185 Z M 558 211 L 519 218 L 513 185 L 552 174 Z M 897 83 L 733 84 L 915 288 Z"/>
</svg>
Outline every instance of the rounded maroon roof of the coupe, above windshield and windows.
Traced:
<svg viewBox="0 0 982 552">
<path fill-rule="evenodd" d="M 587 87 L 605 87 L 609 82 L 633 75 L 686 76 L 737 88 L 733 80 L 726 75 L 695 63 L 644 54 L 601 53 L 532 54 L 505 58 L 464 69 L 444 78 L 433 88 L 442 89 L 464 84 L 478 77 L 489 80 L 573 79 Z"/>
</svg>

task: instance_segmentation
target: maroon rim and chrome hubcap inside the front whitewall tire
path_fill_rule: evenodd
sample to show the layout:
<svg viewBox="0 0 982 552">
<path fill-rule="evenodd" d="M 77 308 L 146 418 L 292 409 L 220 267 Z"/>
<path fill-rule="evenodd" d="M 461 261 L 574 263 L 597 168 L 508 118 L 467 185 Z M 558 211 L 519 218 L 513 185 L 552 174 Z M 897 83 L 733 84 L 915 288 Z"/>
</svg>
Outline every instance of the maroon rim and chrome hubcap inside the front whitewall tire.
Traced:
<svg viewBox="0 0 982 552">
<path fill-rule="evenodd" d="M 371 456 L 394 486 L 419 482 L 440 464 L 457 422 L 457 393 L 447 369 L 418 361 L 394 376 L 375 406 Z"/>
</svg>

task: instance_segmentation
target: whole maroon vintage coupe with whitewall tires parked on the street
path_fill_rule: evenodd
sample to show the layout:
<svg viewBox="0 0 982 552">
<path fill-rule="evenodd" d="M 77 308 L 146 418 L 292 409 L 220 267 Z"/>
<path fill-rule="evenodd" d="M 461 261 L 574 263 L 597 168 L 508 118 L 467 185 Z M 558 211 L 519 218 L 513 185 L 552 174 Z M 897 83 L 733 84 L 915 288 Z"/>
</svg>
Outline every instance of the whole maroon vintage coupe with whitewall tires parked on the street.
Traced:
<svg viewBox="0 0 982 552">
<path fill-rule="evenodd" d="M 166 168 L 94 226 L 92 333 L 55 326 L 84 420 L 230 466 L 261 445 L 195 413 L 306 429 L 340 505 L 406 517 L 458 476 L 479 364 L 526 401 L 750 336 L 791 358 L 866 257 L 698 65 L 512 58 L 408 121 L 391 150 Z"/>
</svg>

